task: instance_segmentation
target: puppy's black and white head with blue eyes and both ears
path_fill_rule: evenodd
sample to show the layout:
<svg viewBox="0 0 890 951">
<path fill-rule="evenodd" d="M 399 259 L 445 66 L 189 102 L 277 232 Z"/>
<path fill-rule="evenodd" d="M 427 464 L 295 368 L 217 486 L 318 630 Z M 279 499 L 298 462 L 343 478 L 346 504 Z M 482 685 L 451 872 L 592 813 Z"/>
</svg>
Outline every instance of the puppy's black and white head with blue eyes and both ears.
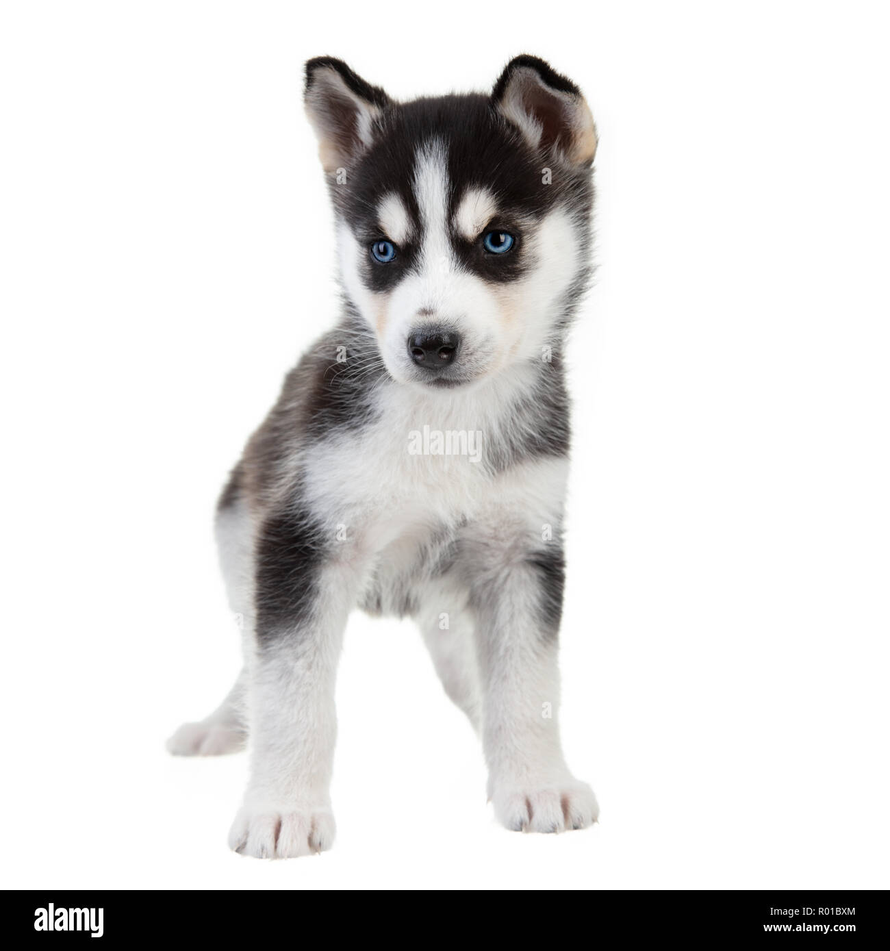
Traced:
<svg viewBox="0 0 890 951">
<path fill-rule="evenodd" d="M 348 297 L 389 373 L 450 388 L 540 359 L 588 273 L 590 109 L 532 57 L 491 96 L 397 104 L 306 68 Z"/>
</svg>

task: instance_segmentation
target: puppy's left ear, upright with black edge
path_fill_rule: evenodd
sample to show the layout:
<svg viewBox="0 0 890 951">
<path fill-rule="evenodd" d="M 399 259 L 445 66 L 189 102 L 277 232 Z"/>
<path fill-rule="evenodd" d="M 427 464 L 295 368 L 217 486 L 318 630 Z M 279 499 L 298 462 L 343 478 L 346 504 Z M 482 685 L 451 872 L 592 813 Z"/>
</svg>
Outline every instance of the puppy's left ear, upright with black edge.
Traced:
<svg viewBox="0 0 890 951">
<path fill-rule="evenodd" d="M 326 172 L 346 167 L 371 145 L 374 121 L 391 102 L 381 88 L 366 83 L 332 56 L 306 64 L 303 101 L 319 137 L 319 158 Z"/>
</svg>

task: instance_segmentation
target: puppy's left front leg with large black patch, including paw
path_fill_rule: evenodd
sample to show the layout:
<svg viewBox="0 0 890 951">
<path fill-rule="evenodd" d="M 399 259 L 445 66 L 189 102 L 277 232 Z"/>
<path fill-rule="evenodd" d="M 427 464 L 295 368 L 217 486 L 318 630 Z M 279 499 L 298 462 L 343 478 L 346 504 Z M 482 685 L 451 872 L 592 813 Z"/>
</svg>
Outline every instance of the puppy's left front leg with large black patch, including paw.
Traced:
<svg viewBox="0 0 890 951">
<path fill-rule="evenodd" d="M 288 513 L 264 525 L 256 577 L 250 780 L 229 844 L 244 855 L 288 858 L 334 841 L 334 686 L 355 575 L 330 556 L 317 528 Z"/>
</svg>

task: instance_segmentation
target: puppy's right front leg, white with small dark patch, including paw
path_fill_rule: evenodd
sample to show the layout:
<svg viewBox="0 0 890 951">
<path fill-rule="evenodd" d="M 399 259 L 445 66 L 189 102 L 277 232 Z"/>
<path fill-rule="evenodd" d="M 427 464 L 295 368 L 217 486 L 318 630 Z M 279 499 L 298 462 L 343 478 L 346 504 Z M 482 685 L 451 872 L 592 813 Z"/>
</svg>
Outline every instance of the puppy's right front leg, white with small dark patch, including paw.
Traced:
<svg viewBox="0 0 890 951">
<path fill-rule="evenodd" d="M 557 633 L 563 557 L 558 542 L 519 532 L 480 545 L 473 603 L 483 684 L 489 798 L 508 828 L 560 832 L 590 825 L 593 792 L 566 766 L 559 739 Z"/>
</svg>

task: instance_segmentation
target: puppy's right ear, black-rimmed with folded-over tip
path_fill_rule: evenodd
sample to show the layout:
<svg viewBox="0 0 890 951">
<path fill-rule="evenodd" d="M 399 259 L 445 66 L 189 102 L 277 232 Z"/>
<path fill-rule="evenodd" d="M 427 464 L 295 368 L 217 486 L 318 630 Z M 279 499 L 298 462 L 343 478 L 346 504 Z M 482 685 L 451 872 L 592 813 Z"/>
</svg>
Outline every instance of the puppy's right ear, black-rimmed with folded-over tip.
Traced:
<svg viewBox="0 0 890 951">
<path fill-rule="evenodd" d="M 494 84 L 492 104 L 532 148 L 554 149 L 572 165 L 590 165 L 596 126 L 581 90 L 536 56 L 517 56 Z"/>
</svg>

